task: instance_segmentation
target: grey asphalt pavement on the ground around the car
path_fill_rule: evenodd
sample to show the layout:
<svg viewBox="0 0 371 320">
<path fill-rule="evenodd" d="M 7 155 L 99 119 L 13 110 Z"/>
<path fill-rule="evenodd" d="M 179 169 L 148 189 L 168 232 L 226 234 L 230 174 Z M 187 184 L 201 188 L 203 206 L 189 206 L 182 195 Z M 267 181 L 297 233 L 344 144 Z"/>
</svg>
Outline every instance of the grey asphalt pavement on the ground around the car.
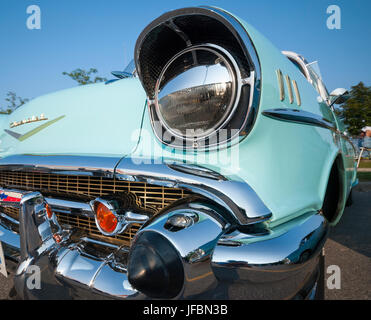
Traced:
<svg viewBox="0 0 371 320">
<path fill-rule="evenodd" d="M 341 272 L 340 289 L 326 288 L 329 300 L 371 299 L 371 183 L 354 191 L 353 205 L 330 230 L 325 245 L 326 279 L 332 275 L 329 266 L 336 265 Z M 10 289 L 11 281 L 0 275 L 0 299 L 7 299 Z"/>
</svg>

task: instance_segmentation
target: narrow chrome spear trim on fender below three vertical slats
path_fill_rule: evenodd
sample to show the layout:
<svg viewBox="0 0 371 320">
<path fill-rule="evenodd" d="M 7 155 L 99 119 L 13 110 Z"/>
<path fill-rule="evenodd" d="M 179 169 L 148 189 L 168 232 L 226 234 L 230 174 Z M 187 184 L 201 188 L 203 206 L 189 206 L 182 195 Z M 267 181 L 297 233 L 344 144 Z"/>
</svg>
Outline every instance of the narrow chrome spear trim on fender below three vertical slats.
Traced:
<svg viewBox="0 0 371 320">
<path fill-rule="evenodd" d="M 335 132 L 337 131 L 335 125 L 332 124 L 330 121 L 308 111 L 298 109 L 277 108 L 265 110 L 262 112 L 262 114 L 268 118 L 272 118 L 275 120 L 312 125 L 325 129 L 330 129 Z"/>
</svg>

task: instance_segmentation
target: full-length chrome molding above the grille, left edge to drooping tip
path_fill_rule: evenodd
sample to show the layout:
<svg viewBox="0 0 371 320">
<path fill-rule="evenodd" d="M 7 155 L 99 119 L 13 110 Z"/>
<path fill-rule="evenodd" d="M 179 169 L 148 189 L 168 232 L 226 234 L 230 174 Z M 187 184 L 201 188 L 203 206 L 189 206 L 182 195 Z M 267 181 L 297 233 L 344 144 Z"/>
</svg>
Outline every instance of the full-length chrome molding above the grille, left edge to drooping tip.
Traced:
<svg viewBox="0 0 371 320">
<path fill-rule="evenodd" d="M 45 156 L 10 156 L 0 160 L 1 170 L 15 171 L 42 171 L 50 173 L 65 174 L 105 174 L 105 176 L 113 177 L 113 169 L 108 166 L 98 167 L 102 165 L 98 158 L 91 157 L 75 157 L 71 156 L 50 156 L 49 162 L 46 162 Z M 110 158 L 112 161 L 113 159 Z M 82 165 L 78 165 L 78 160 Z M 116 159 L 115 159 L 116 160 Z M 163 163 L 153 159 L 148 163 L 145 159 L 123 158 L 117 163 L 115 177 L 120 180 L 127 181 L 142 181 L 149 184 L 184 188 L 196 194 L 205 196 L 212 201 L 222 205 L 234 219 L 242 225 L 259 223 L 266 221 L 272 217 L 271 211 L 264 205 L 255 191 L 244 181 L 233 181 L 226 177 L 215 179 L 215 177 L 202 176 L 190 172 L 179 171 L 178 163 L 169 162 Z M 34 164 L 31 164 L 31 161 Z M 92 163 L 90 163 L 92 161 Z M 73 163 L 74 166 L 68 165 Z M 110 163 L 110 162 L 108 162 Z M 113 161 L 111 162 L 111 164 Z M 67 165 L 65 165 L 67 164 Z M 85 167 L 83 167 L 83 165 Z M 175 165 L 175 167 L 171 167 Z M 68 167 L 68 171 L 66 170 Z M 205 171 L 205 168 L 192 166 L 197 171 Z M 93 169 L 92 169 L 93 168 Z M 102 169 L 103 168 L 103 169 Z M 75 169 L 76 171 L 73 171 Z M 93 170 L 93 171 L 92 171 Z M 91 209 L 88 210 L 87 204 L 79 202 L 71 202 L 62 199 L 47 198 L 48 203 L 53 207 L 60 208 L 75 208 L 85 212 L 91 216 Z"/>
</svg>

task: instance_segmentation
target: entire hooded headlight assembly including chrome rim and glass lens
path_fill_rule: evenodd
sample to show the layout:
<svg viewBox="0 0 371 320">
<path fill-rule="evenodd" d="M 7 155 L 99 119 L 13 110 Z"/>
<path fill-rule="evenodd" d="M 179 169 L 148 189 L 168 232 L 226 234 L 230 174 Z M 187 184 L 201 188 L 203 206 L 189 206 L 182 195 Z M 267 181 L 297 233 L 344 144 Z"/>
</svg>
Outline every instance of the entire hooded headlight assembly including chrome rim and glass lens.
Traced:
<svg viewBox="0 0 371 320">
<path fill-rule="evenodd" d="M 134 58 L 162 144 L 212 150 L 240 142 L 253 128 L 260 63 L 234 16 L 214 7 L 167 12 L 142 31 Z"/>
</svg>

